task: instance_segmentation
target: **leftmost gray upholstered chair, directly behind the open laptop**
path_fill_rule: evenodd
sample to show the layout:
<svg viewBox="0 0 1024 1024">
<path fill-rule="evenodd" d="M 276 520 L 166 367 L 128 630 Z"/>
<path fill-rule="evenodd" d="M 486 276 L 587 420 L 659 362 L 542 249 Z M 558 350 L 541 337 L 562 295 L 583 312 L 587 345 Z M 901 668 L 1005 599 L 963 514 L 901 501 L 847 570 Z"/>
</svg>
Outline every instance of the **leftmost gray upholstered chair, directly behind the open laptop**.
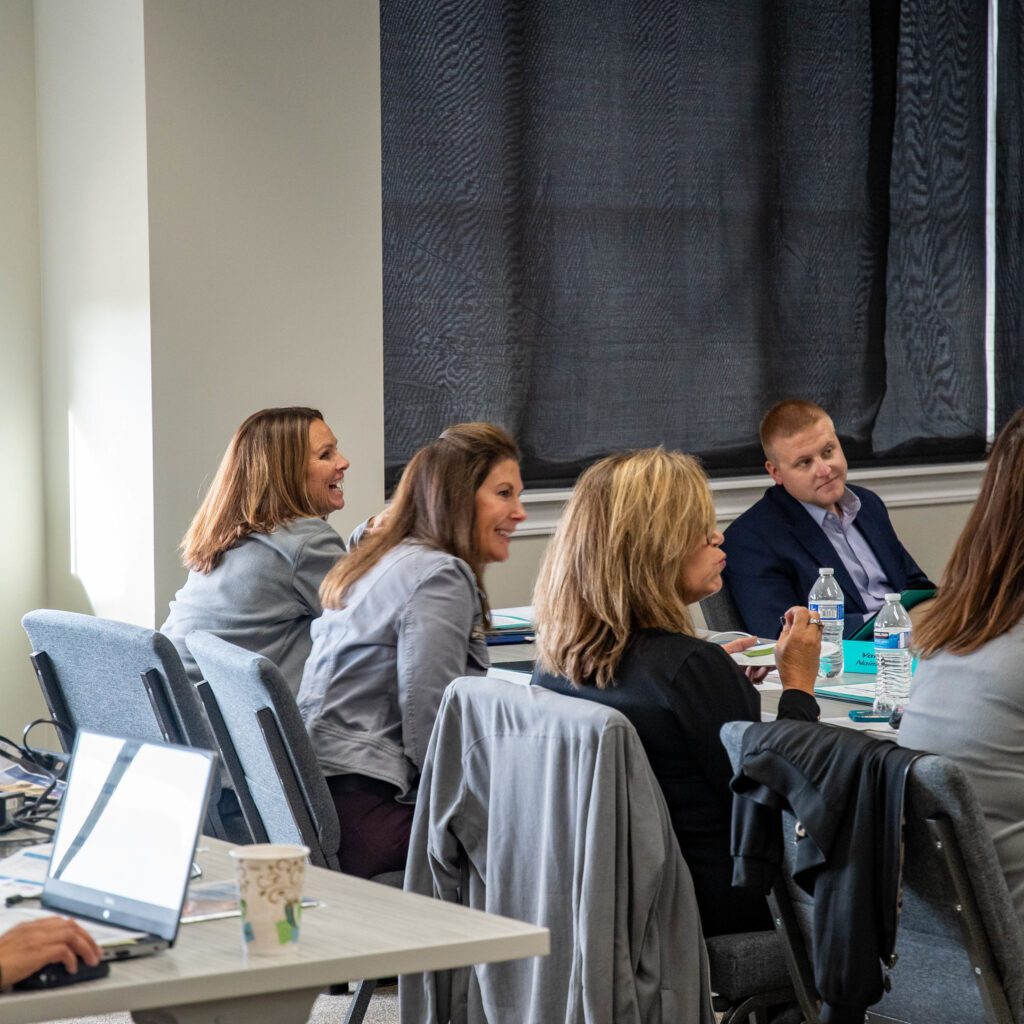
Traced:
<svg viewBox="0 0 1024 1024">
<path fill-rule="evenodd" d="M 65 751 L 89 729 L 127 739 L 216 751 L 217 742 L 174 644 L 156 630 L 39 608 L 22 620 L 36 677 Z M 250 842 L 234 794 L 215 783 L 206 828 Z"/>
</svg>

